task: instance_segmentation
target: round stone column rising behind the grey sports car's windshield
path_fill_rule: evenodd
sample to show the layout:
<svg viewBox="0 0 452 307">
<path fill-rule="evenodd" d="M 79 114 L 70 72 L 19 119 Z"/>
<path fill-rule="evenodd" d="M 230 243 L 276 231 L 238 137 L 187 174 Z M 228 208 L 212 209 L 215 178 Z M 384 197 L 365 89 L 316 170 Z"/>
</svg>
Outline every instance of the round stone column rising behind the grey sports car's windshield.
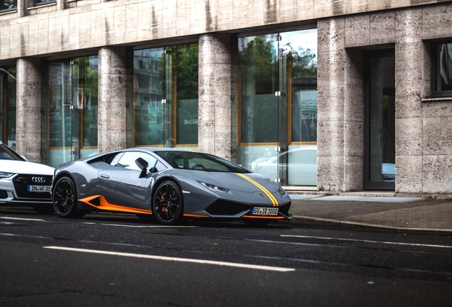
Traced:
<svg viewBox="0 0 452 307">
<path fill-rule="evenodd" d="M 198 149 L 231 160 L 231 36 L 209 33 L 199 39 Z"/>
</svg>

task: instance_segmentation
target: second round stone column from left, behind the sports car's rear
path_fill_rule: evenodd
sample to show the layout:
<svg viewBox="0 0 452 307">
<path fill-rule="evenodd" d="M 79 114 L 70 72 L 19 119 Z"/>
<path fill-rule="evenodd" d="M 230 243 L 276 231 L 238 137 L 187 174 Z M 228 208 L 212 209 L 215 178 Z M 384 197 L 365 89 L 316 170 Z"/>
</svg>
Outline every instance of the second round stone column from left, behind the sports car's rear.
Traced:
<svg viewBox="0 0 452 307">
<path fill-rule="evenodd" d="M 99 153 L 127 147 L 127 48 L 99 49 Z"/>
</svg>

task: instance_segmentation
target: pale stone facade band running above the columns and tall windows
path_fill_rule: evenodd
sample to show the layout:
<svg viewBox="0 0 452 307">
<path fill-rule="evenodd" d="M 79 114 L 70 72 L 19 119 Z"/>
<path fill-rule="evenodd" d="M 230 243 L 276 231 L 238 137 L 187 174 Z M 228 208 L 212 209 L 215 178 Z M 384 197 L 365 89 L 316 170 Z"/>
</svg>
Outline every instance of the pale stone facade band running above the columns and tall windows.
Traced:
<svg viewBox="0 0 452 307">
<path fill-rule="evenodd" d="M 436 2 L 444 1 L 58 0 L 55 4 L 33 6 L 33 0 L 18 0 L 18 11 L 0 15 L 0 58 L 136 44 L 215 31 L 237 32 Z"/>
</svg>

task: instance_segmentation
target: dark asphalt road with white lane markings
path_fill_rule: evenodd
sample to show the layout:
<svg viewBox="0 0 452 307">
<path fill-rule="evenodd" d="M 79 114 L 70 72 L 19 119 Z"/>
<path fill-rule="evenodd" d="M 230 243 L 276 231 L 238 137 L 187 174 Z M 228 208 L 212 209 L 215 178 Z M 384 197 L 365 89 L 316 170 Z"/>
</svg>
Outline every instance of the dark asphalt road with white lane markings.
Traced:
<svg viewBox="0 0 452 307">
<path fill-rule="evenodd" d="M 0 306 L 451 306 L 452 239 L 0 207 Z"/>
</svg>

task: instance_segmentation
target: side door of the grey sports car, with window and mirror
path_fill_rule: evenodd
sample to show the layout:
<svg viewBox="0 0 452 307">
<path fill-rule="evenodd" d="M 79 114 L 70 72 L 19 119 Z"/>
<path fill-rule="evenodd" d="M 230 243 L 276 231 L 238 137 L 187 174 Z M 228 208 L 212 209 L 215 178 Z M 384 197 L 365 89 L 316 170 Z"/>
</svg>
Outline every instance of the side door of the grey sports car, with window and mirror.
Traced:
<svg viewBox="0 0 452 307">
<path fill-rule="evenodd" d="M 137 158 L 144 158 L 149 168 L 157 161 L 141 151 L 126 151 L 114 159 L 109 168 L 99 172 L 101 193 L 109 204 L 149 209 L 151 190 L 148 187 L 154 184 L 154 178 L 150 173 L 140 178 L 141 169 L 135 163 Z"/>
</svg>

